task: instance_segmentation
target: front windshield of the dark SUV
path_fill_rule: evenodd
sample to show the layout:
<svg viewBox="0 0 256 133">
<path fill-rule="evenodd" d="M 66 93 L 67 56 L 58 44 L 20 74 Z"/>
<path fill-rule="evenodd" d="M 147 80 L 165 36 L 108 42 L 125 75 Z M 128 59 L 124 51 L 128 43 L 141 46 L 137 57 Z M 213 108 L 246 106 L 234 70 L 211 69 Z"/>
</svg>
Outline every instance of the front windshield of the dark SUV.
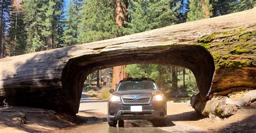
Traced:
<svg viewBox="0 0 256 133">
<path fill-rule="evenodd" d="M 120 82 L 116 91 L 158 90 L 157 84 L 151 80 L 130 80 Z"/>
</svg>

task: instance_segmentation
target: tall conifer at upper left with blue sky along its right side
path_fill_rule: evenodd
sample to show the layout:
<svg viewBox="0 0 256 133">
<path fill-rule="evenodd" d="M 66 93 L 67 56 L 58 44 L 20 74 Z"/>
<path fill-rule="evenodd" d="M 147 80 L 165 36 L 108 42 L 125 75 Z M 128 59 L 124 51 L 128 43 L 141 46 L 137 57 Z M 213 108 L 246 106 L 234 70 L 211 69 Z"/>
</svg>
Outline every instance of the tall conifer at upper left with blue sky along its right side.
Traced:
<svg viewBox="0 0 256 133">
<path fill-rule="evenodd" d="M 57 48 L 63 43 L 63 0 L 24 0 L 28 52 Z"/>
</svg>

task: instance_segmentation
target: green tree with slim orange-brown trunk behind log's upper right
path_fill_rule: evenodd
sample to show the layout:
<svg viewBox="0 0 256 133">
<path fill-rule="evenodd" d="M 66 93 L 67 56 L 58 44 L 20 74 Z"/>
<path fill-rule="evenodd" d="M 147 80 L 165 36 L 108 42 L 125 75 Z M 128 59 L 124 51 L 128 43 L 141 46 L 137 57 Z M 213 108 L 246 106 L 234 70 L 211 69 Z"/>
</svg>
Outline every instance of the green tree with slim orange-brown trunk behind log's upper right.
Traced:
<svg viewBox="0 0 256 133">
<path fill-rule="evenodd" d="M 190 10 L 187 13 L 187 21 L 195 21 L 212 16 L 210 0 L 189 0 L 189 2 Z"/>
</svg>

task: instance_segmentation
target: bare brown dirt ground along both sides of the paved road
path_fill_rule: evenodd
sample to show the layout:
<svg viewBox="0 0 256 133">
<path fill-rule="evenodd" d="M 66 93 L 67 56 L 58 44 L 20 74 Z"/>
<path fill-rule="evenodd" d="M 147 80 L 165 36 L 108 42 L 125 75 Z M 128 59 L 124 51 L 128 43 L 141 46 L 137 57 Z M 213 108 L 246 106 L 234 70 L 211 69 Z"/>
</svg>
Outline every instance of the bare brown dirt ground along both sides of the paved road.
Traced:
<svg viewBox="0 0 256 133">
<path fill-rule="evenodd" d="M 25 116 L 25 119 L 24 119 Z M 173 103 L 168 106 L 170 126 L 196 127 L 210 132 L 256 132 L 256 102 L 244 107 L 227 119 L 215 117 L 204 118 L 194 112 L 185 103 Z M 51 110 L 28 107 L 0 108 L 0 132 L 35 132 L 72 130 L 86 124 L 97 124 L 106 121 L 105 114 L 78 113 L 78 117 L 59 114 Z M 79 123 L 79 124 L 78 124 Z M 148 121 L 125 121 L 125 127 L 152 127 Z M 162 130 L 168 131 L 164 127 Z"/>
</svg>

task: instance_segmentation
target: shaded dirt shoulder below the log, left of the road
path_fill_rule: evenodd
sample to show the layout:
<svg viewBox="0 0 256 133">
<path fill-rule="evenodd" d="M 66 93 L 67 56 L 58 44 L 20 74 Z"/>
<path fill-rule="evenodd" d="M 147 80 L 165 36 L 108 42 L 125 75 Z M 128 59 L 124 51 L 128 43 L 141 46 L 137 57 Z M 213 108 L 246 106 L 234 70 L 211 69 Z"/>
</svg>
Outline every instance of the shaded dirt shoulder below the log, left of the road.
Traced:
<svg viewBox="0 0 256 133">
<path fill-rule="evenodd" d="M 0 108 L 0 132 L 37 132 L 76 125 L 76 118 L 52 110 L 29 107 Z"/>
</svg>

